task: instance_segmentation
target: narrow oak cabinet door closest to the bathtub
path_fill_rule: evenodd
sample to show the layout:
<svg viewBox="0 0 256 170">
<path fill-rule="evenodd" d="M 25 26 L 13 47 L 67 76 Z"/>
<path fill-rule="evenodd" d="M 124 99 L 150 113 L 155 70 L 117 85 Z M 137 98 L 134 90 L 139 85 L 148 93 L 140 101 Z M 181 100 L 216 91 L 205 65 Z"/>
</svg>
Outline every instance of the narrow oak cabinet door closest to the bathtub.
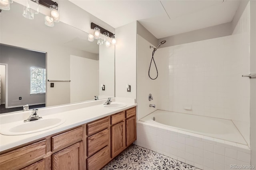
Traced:
<svg viewBox="0 0 256 170">
<path fill-rule="evenodd" d="M 126 146 L 136 140 L 136 116 L 126 119 Z"/>
</svg>

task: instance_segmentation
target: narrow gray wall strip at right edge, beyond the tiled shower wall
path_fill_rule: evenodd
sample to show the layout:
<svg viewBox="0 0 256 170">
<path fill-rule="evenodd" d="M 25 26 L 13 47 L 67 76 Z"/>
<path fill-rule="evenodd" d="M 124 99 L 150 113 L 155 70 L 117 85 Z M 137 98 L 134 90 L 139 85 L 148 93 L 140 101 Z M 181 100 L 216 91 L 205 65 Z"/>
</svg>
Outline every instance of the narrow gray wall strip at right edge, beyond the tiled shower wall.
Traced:
<svg viewBox="0 0 256 170">
<path fill-rule="evenodd" d="M 250 72 L 256 73 L 256 1 L 250 0 Z M 251 164 L 256 167 L 256 78 L 250 80 Z"/>
</svg>

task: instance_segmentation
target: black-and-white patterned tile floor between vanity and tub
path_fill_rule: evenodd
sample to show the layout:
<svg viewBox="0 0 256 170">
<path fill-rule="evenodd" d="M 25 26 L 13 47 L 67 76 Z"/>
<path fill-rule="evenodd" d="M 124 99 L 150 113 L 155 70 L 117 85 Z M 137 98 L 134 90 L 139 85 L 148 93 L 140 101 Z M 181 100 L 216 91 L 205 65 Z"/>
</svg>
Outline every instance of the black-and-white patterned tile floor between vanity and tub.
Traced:
<svg viewBox="0 0 256 170">
<path fill-rule="evenodd" d="M 102 170 L 200 170 L 152 150 L 131 145 Z"/>
</svg>

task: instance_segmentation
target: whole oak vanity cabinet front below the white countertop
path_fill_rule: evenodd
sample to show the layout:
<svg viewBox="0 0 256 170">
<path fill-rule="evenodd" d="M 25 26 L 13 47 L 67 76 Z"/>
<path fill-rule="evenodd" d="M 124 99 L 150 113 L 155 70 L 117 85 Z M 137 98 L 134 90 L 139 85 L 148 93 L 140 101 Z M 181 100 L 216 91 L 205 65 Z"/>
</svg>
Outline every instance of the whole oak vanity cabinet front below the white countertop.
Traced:
<svg viewBox="0 0 256 170">
<path fill-rule="evenodd" d="M 100 170 L 136 140 L 136 107 L 0 153 L 1 170 Z"/>
</svg>

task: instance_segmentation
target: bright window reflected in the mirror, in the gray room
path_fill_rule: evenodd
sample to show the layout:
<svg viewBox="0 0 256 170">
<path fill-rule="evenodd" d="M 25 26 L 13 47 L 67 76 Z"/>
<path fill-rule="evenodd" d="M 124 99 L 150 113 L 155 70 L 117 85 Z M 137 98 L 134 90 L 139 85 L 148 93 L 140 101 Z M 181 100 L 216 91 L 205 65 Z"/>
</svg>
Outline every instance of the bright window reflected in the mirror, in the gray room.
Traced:
<svg viewBox="0 0 256 170">
<path fill-rule="evenodd" d="M 45 94 L 46 69 L 30 68 L 30 94 Z"/>
</svg>

